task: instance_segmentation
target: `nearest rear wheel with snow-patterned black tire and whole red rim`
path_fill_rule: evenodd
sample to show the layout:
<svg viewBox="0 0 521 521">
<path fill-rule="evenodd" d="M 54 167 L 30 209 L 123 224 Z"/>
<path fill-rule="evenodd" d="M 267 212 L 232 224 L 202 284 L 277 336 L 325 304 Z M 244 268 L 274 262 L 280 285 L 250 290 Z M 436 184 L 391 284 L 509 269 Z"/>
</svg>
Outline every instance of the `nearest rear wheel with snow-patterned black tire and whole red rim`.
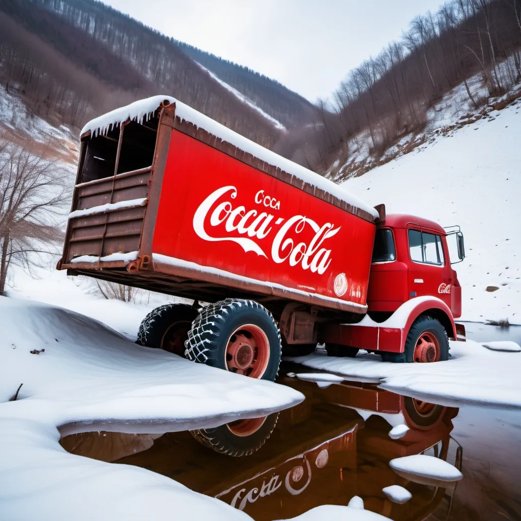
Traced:
<svg viewBox="0 0 521 521">
<path fill-rule="evenodd" d="M 189 360 L 232 373 L 275 380 L 280 332 L 271 313 L 252 300 L 226 299 L 206 306 L 188 332 Z"/>
</svg>

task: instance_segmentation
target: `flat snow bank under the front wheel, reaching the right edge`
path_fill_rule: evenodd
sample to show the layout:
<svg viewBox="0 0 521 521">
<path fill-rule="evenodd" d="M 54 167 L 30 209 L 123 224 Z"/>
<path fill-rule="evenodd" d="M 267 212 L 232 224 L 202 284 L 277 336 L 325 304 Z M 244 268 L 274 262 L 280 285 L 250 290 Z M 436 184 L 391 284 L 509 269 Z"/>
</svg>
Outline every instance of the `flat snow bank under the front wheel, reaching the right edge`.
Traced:
<svg viewBox="0 0 521 521">
<path fill-rule="evenodd" d="M 349 379 L 379 381 L 380 386 L 425 399 L 521 407 L 521 357 L 483 348 L 481 344 L 450 342 L 451 358 L 434 364 L 393 364 L 376 354 L 356 358 L 327 356 L 324 352 L 287 359 L 306 367 Z M 400 423 L 404 423 L 403 421 Z"/>
</svg>

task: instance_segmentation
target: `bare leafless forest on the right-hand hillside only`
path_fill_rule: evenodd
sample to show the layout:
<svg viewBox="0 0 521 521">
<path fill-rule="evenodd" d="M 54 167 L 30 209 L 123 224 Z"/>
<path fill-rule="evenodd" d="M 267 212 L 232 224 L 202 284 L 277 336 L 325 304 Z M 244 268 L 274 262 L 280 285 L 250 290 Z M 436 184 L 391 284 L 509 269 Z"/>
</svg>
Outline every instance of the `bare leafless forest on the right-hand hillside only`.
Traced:
<svg viewBox="0 0 521 521">
<path fill-rule="evenodd" d="M 369 153 L 379 157 L 404 135 L 423 131 L 429 108 L 455 86 L 463 83 L 478 108 L 519 83 L 520 51 L 521 0 L 449 0 L 351 70 L 329 100 L 318 101 L 315 125 L 285 135 L 277 152 L 325 172 L 334 160 L 345 162 L 367 132 Z M 470 91 L 474 75 L 487 97 Z"/>
</svg>

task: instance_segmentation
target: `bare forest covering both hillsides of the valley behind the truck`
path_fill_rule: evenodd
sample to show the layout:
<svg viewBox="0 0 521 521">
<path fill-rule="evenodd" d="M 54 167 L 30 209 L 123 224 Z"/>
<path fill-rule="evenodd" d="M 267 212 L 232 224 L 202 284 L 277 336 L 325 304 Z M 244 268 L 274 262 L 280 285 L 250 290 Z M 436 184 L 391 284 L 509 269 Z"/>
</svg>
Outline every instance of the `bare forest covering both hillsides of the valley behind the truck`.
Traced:
<svg viewBox="0 0 521 521">
<path fill-rule="evenodd" d="M 428 110 L 457 85 L 480 107 L 488 96 L 473 95 L 467 84 L 473 76 L 489 96 L 521 80 L 521 0 L 449 0 L 417 16 L 401 40 L 349 71 L 315 106 L 97 0 L 3 0 L 0 34 L 3 87 L 55 124 L 81 127 L 116 106 L 164 93 L 320 173 L 345 162 L 362 146 L 361 135 L 379 157 L 403 136 L 421 133 Z"/>
</svg>

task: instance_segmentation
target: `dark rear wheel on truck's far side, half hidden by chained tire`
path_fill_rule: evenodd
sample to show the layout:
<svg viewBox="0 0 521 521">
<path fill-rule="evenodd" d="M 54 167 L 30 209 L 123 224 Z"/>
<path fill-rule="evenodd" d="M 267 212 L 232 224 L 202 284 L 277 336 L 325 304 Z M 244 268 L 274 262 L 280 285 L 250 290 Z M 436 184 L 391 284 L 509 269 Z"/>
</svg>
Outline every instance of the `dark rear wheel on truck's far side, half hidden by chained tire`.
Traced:
<svg viewBox="0 0 521 521">
<path fill-rule="evenodd" d="M 197 311 L 188 304 L 156 307 L 141 322 L 135 343 L 184 357 L 184 342 L 196 316 Z"/>
</svg>

